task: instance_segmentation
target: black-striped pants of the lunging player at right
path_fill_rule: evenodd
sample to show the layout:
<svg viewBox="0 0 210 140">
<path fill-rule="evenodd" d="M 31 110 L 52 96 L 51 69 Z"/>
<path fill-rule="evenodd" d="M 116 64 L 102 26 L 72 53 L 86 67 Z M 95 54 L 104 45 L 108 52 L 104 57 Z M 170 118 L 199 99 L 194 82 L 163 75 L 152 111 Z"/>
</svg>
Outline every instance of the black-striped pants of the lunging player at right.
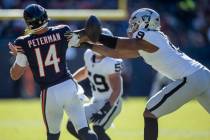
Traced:
<svg viewBox="0 0 210 140">
<path fill-rule="evenodd" d="M 207 68 L 164 87 L 149 99 L 147 109 L 159 118 L 177 110 L 192 99 L 197 99 L 210 113 L 210 71 Z"/>
</svg>

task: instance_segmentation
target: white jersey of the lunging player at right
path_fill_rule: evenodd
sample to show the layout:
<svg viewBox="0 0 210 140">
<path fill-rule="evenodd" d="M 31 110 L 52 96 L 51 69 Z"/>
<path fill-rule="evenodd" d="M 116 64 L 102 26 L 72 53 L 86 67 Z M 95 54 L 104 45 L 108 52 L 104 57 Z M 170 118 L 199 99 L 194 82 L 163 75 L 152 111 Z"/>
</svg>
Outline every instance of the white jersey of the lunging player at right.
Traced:
<svg viewBox="0 0 210 140">
<path fill-rule="evenodd" d="M 155 70 L 170 79 L 180 79 L 203 67 L 183 52 L 180 52 L 161 31 L 142 31 L 133 34 L 133 38 L 142 38 L 159 49 L 154 53 L 139 50 L 140 56 Z"/>
</svg>

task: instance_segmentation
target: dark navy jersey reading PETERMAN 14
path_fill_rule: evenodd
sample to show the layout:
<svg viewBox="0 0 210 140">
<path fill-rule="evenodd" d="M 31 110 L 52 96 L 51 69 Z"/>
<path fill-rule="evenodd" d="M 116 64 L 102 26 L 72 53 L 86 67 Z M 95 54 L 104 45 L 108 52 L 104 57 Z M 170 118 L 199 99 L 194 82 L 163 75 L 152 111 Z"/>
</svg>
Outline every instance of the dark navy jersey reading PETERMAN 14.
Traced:
<svg viewBox="0 0 210 140">
<path fill-rule="evenodd" d="M 17 38 L 28 59 L 35 81 L 47 88 L 71 78 L 66 65 L 68 41 L 64 34 L 71 29 L 67 25 L 49 27 L 43 34 L 29 34 Z"/>
</svg>

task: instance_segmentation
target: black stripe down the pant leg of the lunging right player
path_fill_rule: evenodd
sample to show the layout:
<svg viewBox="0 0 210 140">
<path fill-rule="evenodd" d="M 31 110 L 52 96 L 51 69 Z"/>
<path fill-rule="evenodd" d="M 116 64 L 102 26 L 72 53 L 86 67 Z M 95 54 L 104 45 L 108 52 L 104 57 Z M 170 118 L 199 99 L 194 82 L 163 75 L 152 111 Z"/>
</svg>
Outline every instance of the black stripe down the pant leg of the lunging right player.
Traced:
<svg viewBox="0 0 210 140">
<path fill-rule="evenodd" d="M 187 82 L 187 78 L 184 77 L 183 81 L 174 89 L 172 89 L 169 93 L 165 94 L 163 96 L 163 98 L 160 100 L 159 103 L 157 103 L 155 106 L 153 106 L 152 108 L 148 109 L 150 112 L 156 110 L 158 107 L 160 107 L 171 95 L 173 95 L 177 90 L 179 90 L 181 87 L 183 87 L 185 85 L 185 83 Z"/>
</svg>

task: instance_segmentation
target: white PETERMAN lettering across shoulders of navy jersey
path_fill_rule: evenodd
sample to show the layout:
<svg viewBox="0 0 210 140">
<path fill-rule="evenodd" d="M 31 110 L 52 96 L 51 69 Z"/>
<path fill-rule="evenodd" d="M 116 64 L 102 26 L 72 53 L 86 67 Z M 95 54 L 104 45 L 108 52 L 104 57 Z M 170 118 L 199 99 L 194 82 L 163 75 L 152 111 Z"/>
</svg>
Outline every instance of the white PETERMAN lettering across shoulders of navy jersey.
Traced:
<svg viewBox="0 0 210 140">
<path fill-rule="evenodd" d="M 61 40 L 60 34 L 55 33 L 55 34 L 50 34 L 50 35 L 42 36 L 39 38 L 35 38 L 32 40 L 28 40 L 28 46 L 31 48 L 32 46 L 36 47 L 40 45 L 46 45 L 46 44 L 54 43 L 60 40 Z"/>
</svg>

